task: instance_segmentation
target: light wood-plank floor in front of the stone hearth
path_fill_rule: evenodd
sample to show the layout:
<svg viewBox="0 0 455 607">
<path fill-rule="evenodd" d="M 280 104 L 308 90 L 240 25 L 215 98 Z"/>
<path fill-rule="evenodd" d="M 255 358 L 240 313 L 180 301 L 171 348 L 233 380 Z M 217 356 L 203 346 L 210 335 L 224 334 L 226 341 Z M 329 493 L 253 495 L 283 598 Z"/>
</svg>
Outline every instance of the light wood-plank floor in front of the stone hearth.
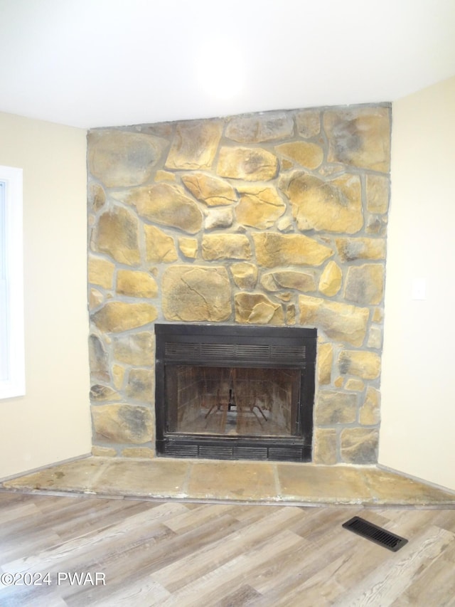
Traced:
<svg viewBox="0 0 455 607">
<path fill-rule="evenodd" d="M 346 531 L 355 514 L 408 544 Z M 1 607 L 455 606 L 455 510 L 0 492 L 0 580 Z"/>
</svg>

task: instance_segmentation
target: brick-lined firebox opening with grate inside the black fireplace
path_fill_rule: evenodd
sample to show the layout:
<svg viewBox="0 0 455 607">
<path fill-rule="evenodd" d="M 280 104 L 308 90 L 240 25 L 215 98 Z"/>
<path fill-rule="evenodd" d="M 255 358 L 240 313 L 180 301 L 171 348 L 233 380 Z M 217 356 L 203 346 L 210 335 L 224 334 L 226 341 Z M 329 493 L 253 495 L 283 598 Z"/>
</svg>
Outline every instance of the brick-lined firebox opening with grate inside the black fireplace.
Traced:
<svg viewBox="0 0 455 607">
<path fill-rule="evenodd" d="M 296 436 L 300 369 L 171 365 L 167 431 L 220 436 Z"/>
</svg>

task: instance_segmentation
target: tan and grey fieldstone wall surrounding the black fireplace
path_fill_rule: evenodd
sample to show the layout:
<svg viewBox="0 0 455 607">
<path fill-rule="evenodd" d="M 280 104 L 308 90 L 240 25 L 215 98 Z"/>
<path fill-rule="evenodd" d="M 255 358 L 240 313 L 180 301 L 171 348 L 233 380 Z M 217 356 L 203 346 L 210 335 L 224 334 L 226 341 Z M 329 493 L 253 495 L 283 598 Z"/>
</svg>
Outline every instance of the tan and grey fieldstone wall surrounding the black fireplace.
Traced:
<svg viewBox="0 0 455 607">
<path fill-rule="evenodd" d="M 314 463 L 377 460 L 390 107 L 88 135 L 93 453 L 154 456 L 154 322 L 319 334 Z"/>
</svg>

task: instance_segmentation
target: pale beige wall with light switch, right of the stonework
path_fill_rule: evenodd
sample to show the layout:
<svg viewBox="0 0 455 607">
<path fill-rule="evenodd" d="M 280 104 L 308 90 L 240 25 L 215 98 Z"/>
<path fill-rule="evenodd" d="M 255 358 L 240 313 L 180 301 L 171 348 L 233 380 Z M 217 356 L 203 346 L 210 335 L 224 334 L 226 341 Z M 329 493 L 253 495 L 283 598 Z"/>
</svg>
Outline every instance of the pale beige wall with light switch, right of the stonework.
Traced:
<svg viewBox="0 0 455 607">
<path fill-rule="evenodd" d="M 454 108 L 455 78 L 392 106 L 379 461 L 455 490 Z"/>
</svg>

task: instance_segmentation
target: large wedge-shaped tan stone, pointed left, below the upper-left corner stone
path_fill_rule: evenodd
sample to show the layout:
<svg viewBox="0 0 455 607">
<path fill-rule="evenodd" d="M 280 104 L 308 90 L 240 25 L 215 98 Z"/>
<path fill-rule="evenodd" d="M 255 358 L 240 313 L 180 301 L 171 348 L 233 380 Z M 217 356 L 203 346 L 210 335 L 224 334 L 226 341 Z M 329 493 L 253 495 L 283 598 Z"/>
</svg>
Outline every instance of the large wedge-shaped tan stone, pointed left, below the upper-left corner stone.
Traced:
<svg viewBox="0 0 455 607">
<path fill-rule="evenodd" d="M 154 184 L 112 192 L 112 197 L 134 206 L 140 216 L 163 226 L 195 234 L 202 228 L 203 216 L 198 204 L 171 184 Z"/>
</svg>

